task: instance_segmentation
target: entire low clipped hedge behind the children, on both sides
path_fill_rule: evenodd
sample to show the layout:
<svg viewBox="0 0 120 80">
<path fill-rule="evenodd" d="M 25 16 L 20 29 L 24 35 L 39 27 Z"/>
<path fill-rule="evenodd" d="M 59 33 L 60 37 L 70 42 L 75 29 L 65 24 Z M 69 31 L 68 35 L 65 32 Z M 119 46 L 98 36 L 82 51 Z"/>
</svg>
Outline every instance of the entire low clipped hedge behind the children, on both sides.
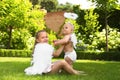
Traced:
<svg viewBox="0 0 120 80">
<path fill-rule="evenodd" d="M 108 60 L 108 61 L 120 61 L 120 52 L 94 52 L 94 51 L 76 51 L 78 59 L 88 60 Z M 1 57 L 31 57 L 31 50 L 13 50 L 13 49 L 0 49 Z M 59 58 L 63 58 L 62 53 Z"/>
</svg>

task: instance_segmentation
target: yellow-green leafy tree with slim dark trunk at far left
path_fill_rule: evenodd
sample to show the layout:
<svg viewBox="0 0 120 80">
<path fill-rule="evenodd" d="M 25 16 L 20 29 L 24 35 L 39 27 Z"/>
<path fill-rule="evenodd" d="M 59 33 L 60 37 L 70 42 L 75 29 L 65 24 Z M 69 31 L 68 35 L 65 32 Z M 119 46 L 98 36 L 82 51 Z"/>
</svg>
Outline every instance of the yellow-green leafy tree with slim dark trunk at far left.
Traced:
<svg viewBox="0 0 120 80">
<path fill-rule="evenodd" d="M 12 30 L 27 27 L 27 12 L 32 5 L 28 0 L 2 0 L 0 3 L 0 30 L 9 35 L 7 48 L 10 48 Z"/>
</svg>

